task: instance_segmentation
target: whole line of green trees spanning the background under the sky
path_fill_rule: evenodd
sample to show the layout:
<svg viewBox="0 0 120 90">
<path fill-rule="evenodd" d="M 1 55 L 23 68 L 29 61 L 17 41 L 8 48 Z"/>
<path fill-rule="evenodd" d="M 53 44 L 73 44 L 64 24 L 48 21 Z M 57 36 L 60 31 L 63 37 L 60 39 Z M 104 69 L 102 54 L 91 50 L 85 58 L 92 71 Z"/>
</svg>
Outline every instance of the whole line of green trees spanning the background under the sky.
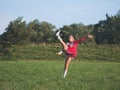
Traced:
<svg viewBox="0 0 120 90">
<path fill-rule="evenodd" d="M 120 44 L 120 10 L 114 16 L 106 14 L 106 19 L 100 20 L 97 24 L 73 23 L 58 29 L 49 22 L 35 19 L 26 23 L 23 17 L 18 17 L 9 22 L 5 32 L 0 35 L 0 52 L 14 44 L 57 43 L 55 33 L 58 30 L 62 30 L 61 37 L 65 41 L 68 35 L 78 39 L 93 34 L 96 44 Z"/>
</svg>

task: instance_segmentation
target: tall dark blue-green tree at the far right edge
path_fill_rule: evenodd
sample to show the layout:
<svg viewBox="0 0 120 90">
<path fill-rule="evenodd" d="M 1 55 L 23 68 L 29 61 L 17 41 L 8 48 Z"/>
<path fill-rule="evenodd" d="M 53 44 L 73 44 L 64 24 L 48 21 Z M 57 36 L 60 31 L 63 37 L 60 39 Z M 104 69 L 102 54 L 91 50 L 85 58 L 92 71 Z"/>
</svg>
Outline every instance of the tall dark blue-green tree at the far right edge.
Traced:
<svg viewBox="0 0 120 90">
<path fill-rule="evenodd" d="M 108 16 L 106 20 L 95 24 L 93 30 L 97 44 L 120 44 L 120 11 L 115 16 Z"/>
</svg>

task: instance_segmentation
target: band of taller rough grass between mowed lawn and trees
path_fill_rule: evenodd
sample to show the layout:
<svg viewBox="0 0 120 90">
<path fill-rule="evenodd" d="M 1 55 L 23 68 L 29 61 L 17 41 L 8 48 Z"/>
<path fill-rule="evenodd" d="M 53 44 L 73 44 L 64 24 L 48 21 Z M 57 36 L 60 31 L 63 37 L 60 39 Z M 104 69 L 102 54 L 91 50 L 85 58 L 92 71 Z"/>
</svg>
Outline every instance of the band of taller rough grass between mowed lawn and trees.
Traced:
<svg viewBox="0 0 120 90">
<path fill-rule="evenodd" d="M 17 46 L 13 45 L 10 55 L 0 57 L 0 60 L 65 60 L 65 55 L 56 55 L 62 50 L 60 44 L 31 44 Z M 8 58 L 11 56 L 10 58 Z M 75 60 L 105 60 L 120 61 L 119 45 L 84 45 L 78 47 L 78 56 Z"/>
</svg>

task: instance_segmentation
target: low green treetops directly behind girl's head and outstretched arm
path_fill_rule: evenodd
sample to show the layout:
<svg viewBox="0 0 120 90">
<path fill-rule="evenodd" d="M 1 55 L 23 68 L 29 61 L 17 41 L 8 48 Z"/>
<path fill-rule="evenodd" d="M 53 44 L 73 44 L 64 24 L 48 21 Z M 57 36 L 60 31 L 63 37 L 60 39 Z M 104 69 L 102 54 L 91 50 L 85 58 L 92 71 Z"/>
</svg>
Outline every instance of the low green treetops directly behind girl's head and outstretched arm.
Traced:
<svg viewBox="0 0 120 90">
<path fill-rule="evenodd" d="M 65 25 L 62 28 L 62 38 L 67 41 L 69 35 L 73 35 L 75 39 L 79 39 L 80 37 L 86 36 L 87 34 L 92 32 L 93 25 L 85 26 L 82 23 L 73 23 L 71 25 Z"/>
</svg>

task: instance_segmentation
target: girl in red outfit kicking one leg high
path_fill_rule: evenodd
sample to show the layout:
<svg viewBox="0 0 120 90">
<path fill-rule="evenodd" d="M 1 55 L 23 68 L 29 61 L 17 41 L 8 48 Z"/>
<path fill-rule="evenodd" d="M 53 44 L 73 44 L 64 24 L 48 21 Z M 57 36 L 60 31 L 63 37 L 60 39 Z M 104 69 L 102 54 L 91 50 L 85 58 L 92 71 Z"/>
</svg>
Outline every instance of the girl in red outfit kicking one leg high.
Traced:
<svg viewBox="0 0 120 90">
<path fill-rule="evenodd" d="M 58 40 L 60 41 L 60 43 L 62 44 L 63 47 L 63 52 L 65 53 L 65 55 L 67 56 L 66 61 L 65 61 L 65 68 L 64 68 L 64 78 L 67 75 L 67 71 L 68 71 L 68 65 L 70 64 L 71 60 L 76 58 L 77 56 L 77 46 L 79 43 L 84 42 L 86 39 L 93 38 L 93 35 L 88 35 L 87 37 L 82 37 L 78 40 L 75 40 L 74 37 L 72 35 L 69 36 L 68 40 L 69 42 L 66 44 L 62 38 L 60 37 L 60 32 L 58 31 L 56 33 L 56 36 L 58 37 Z M 58 53 L 58 55 L 62 54 L 62 51 L 60 51 Z"/>
</svg>

